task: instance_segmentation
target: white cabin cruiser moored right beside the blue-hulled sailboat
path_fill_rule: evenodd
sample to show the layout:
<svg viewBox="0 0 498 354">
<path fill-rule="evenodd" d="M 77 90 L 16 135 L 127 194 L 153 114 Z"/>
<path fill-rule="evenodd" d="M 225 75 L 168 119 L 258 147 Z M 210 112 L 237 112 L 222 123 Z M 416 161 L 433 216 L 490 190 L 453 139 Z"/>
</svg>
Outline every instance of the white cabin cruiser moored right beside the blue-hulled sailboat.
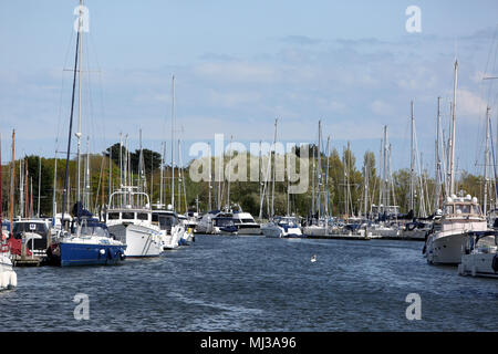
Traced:
<svg viewBox="0 0 498 354">
<path fill-rule="evenodd" d="M 152 220 L 148 195 L 123 186 L 110 196 L 105 212 L 108 232 L 126 244 L 126 257 L 158 257 L 163 251 L 160 229 Z"/>
</svg>

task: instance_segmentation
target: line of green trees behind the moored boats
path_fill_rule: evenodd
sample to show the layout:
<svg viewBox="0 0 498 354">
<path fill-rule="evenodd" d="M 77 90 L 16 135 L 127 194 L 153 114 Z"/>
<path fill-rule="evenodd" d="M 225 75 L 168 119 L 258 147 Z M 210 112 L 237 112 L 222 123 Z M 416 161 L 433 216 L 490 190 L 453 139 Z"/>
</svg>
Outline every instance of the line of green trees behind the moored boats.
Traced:
<svg viewBox="0 0 498 354">
<path fill-rule="evenodd" d="M 276 181 L 274 185 L 274 201 L 273 208 L 276 215 L 287 214 L 290 209 L 291 214 L 300 216 L 309 216 L 314 204 L 315 210 L 319 207 L 318 190 L 320 188 L 320 206 L 322 212 L 330 210 L 333 216 L 344 215 L 360 215 L 364 212 L 365 197 L 366 208 L 370 210 L 372 204 L 380 204 L 380 188 L 381 177 L 378 166 L 376 166 L 375 154 L 366 152 L 361 164 L 356 162 L 356 157 L 349 147 L 345 147 L 340 153 L 338 149 L 332 149 L 329 156 L 323 153 L 318 154 L 317 146 L 312 145 L 308 157 L 308 174 L 309 187 L 307 192 L 288 195 L 289 183 L 287 174 L 283 180 Z M 300 149 L 294 148 L 292 154 L 300 155 Z M 317 177 L 318 159 L 313 162 L 313 156 L 320 156 L 321 174 Z M 104 155 L 82 155 L 81 156 L 81 198 L 83 195 L 87 196 L 89 208 L 92 211 L 98 210 L 102 204 L 107 204 L 110 190 L 113 191 L 120 187 L 121 183 L 121 166 L 127 163 L 129 170 L 129 180 L 136 185 L 139 177 L 141 152 L 127 152 L 122 147 L 122 155 L 120 158 L 120 144 L 114 144 L 106 149 Z M 165 205 L 172 202 L 172 166 L 163 162 L 162 174 L 162 155 L 149 149 L 142 150 L 143 157 L 143 173 L 145 177 L 145 186 L 147 192 L 151 195 L 153 204 L 163 200 Z M 282 156 L 280 156 L 282 157 Z M 259 158 L 247 155 L 247 166 L 250 166 L 251 158 Z M 178 168 L 175 166 L 175 208 L 179 212 L 185 212 L 187 209 L 196 210 L 197 206 L 200 211 L 206 211 L 209 204 L 209 190 L 211 195 L 211 209 L 218 206 L 225 207 L 228 202 L 228 189 L 230 204 L 239 205 L 245 211 L 258 216 L 261 207 L 261 192 L 264 188 L 264 168 L 267 166 L 269 156 L 264 156 L 261 163 L 263 173 L 259 174 L 260 181 L 240 181 L 232 180 L 228 184 L 228 176 L 225 176 L 222 183 L 215 181 L 214 178 L 209 181 L 194 181 L 189 176 L 189 169 L 195 160 L 191 160 L 188 166 Z M 283 156 L 287 160 L 287 156 Z M 224 165 L 230 162 L 229 157 L 224 158 Z M 298 159 L 299 162 L 299 159 Z M 85 166 L 90 166 L 90 183 L 84 184 Z M 212 177 L 215 170 L 216 158 L 211 158 Z M 22 165 L 22 166 L 21 166 Z M 55 166 L 56 165 L 56 166 Z M 359 169 L 356 166 L 361 165 Z M 10 185 L 11 185 L 11 164 L 3 163 L 2 166 L 2 210 L 3 217 L 10 215 Z M 301 168 L 300 166 L 298 166 Z M 42 216 L 52 216 L 53 200 L 55 199 L 56 211 L 61 212 L 63 187 L 65 177 L 65 159 L 63 158 L 40 158 L 39 156 L 27 156 L 23 159 L 15 160 L 13 166 L 14 171 L 14 215 L 37 215 L 38 210 Z M 23 174 L 24 184 L 20 186 L 20 175 Z M 40 174 L 41 173 L 41 174 Z M 248 174 L 250 171 L 248 170 Z M 271 176 L 272 174 L 268 174 Z M 40 176 L 40 179 L 39 179 Z M 69 192 L 68 192 L 68 208 L 76 201 L 77 191 L 77 163 L 75 159 L 69 163 Z M 402 212 L 409 211 L 409 185 L 411 174 L 408 169 L 400 169 L 392 173 L 390 178 L 390 194 L 391 205 L 397 205 Z M 248 178 L 249 179 L 249 178 Z M 423 171 L 422 176 L 416 176 L 416 194 L 415 194 L 415 212 L 418 214 L 423 209 L 427 214 L 434 212 L 434 194 L 435 180 Z M 314 181 L 313 181 L 314 180 Z M 483 194 L 483 177 L 471 175 L 467 171 L 460 174 L 457 181 L 458 188 L 463 194 L 470 194 L 477 196 L 479 200 Z M 365 191 L 365 181 L 367 188 Z M 160 185 L 163 184 L 163 188 Z M 315 194 L 312 188 L 314 184 Z M 86 190 L 84 185 L 90 186 Z M 421 188 L 422 185 L 422 188 Z M 55 194 L 54 194 L 55 186 Z M 28 191 L 27 191 L 28 187 Z M 23 210 L 21 210 L 21 189 L 22 199 L 24 199 Z M 40 190 L 40 192 L 39 192 Z M 268 217 L 270 211 L 271 200 L 271 185 L 266 187 L 266 197 L 263 198 L 262 216 Z M 163 195 L 160 195 L 163 192 Z M 40 197 L 39 197 L 40 196 Z M 220 198 L 219 198 L 220 196 Z M 221 199 L 221 200 L 218 200 Z M 423 204 L 425 204 L 423 206 Z M 28 206 L 28 207 L 27 207 Z"/>
</svg>

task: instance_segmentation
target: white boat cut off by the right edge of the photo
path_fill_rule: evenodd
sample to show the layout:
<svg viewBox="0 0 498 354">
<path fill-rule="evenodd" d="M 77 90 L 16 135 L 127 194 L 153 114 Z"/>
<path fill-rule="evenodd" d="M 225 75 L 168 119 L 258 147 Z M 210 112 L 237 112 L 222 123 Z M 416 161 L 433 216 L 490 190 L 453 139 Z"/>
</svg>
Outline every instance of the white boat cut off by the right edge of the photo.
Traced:
<svg viewBox="0 0 498 354">
<path fill-rule="evenodd" d="M 458 264 L 458 274 L 498 278 L 497 235 L 496 230 L 469 232 L 460 264 Z"/>
</svg>

